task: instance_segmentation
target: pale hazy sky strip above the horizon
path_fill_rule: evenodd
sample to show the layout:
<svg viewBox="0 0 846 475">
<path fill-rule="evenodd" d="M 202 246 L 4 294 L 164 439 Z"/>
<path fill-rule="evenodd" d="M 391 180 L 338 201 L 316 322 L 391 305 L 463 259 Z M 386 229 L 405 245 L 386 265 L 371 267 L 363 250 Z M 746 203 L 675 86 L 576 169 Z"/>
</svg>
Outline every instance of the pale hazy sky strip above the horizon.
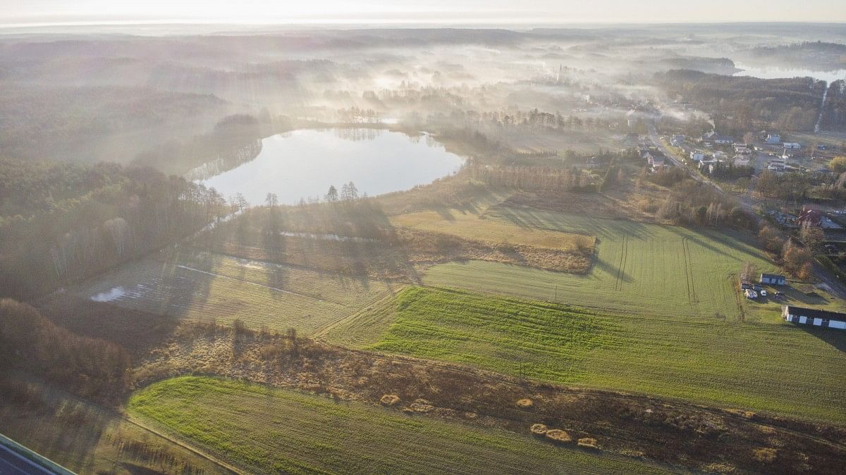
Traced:
<svg viewBox="0 0 846 475">
<path fill-rule="evenodd" d="M 0 25 L 102 21 L 846 22 L 846 0 L 0 0 Z"/>
</svg>

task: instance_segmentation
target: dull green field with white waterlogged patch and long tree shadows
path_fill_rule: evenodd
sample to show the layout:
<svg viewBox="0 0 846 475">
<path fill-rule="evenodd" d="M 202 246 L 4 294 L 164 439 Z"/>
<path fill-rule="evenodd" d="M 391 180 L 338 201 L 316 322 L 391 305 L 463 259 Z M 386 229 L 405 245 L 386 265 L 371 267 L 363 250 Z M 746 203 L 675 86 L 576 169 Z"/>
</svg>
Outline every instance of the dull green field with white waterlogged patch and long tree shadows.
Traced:
<svg viewBox="0 0 846 475">
<path fill-rule="evenodd" d="M 310 334 L 393 293 L 393 286 L 218 254 L 145 259 L 74 289 L 127 308 Z"/>
</svg>

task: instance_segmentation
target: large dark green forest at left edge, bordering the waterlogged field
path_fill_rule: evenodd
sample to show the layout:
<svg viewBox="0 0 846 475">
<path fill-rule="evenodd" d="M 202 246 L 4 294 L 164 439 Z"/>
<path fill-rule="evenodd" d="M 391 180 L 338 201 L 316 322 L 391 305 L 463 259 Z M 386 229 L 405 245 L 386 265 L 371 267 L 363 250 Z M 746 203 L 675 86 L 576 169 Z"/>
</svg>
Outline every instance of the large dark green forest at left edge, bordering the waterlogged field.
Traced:
<svg viewBox="0 0 846 475">
<path fill-rule="evenodd" d="M 0 296 L 91 276 L 224 209 L 214 189 L 151 168 L 0 160 Z"/>
</svg>

